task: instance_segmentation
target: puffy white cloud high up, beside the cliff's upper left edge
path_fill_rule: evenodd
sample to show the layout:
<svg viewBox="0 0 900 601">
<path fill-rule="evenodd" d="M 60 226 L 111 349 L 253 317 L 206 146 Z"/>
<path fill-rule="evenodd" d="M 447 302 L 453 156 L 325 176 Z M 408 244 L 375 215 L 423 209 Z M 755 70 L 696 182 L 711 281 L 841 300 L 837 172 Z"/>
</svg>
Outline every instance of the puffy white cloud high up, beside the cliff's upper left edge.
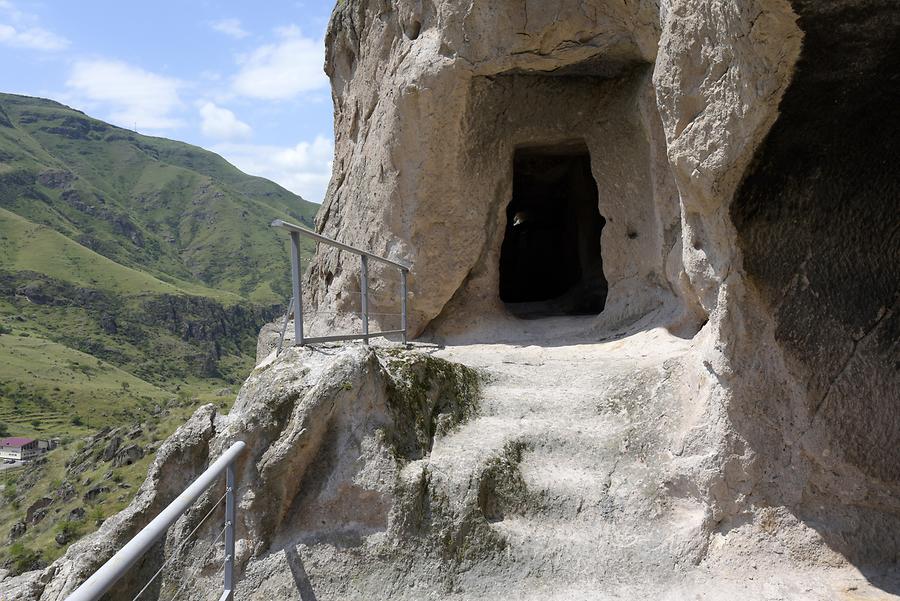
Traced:
<svg viewBox="0 0 900 601">
<path fill-rule="evenodd" d="M 279 40 L 238 60 L 234 91 L 250 98 L 286 100 L 328 86 L 322 69 L 325 44 L 304 37 L 297 27 L 277 30 Z"/>
</svg>

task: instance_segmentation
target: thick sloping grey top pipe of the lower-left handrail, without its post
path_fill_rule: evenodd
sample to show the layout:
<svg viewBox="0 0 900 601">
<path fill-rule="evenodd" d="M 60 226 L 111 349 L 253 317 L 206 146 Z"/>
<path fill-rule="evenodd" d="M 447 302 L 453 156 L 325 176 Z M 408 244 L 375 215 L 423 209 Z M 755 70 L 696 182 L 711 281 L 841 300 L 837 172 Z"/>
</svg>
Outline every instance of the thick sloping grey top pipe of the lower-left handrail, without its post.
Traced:
<svg viewBox="0 0 900 601">
<path fill-rule="evenodd" d="M 234 463 L 246 447 L 247 445 L 240 441 L 231 445 L 168 507 L 69 595 L 66 601 L 97 601 L 156 544 L 166 529 L 174 524 L 200 498 L 200 495 L 215 484 L 222 472 Z"/>
</svg>

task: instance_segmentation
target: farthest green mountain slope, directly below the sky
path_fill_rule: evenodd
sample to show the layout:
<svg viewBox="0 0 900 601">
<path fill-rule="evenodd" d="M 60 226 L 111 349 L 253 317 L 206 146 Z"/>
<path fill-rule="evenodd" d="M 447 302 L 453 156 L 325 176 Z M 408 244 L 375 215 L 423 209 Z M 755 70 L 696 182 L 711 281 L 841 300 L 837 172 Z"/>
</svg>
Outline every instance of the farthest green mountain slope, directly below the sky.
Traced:
<svg viewBox="0 0 900 601">
<path fill-rule="evenodd" d="M 162 281 L 284 302 L 286 236 L 268 224 L 311 225 L 318 205 L 201 148 L 0 94 L 0 208 Z"/>
</svg>

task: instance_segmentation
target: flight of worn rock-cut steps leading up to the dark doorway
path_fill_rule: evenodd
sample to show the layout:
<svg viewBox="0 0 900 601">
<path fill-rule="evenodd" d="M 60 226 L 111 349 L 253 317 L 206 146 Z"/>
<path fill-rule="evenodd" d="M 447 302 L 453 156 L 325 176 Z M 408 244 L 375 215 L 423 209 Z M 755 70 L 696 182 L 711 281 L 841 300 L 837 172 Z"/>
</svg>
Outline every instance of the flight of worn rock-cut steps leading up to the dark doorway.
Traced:
<svg viewBox="0 0 900 601">
<path fill-rule="evenodd" d="M 696 559 L 703 506 L 666 487 L 688 344 L 653 330 L 603 344 L 439 353 L 488 381 L 480 416 L 435 442 L 432 486 L 504 541 L 493 563 L 463 568 L 460 598 L 591 590 L 596 599 L 610 583 L 665 577 Z"/>
</svg>

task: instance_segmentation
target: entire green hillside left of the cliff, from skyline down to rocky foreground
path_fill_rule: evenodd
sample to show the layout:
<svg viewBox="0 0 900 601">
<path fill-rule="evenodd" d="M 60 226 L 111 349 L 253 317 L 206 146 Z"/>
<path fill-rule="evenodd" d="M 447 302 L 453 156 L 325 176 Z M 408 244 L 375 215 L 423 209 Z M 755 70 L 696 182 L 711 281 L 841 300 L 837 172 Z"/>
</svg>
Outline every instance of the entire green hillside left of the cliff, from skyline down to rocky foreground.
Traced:
<svg viewBox="0 0 900 601">
<path fill-rule="evenodd" d="M 201 148 L 0 94 L 0 436 L 63 443 L 0 471 L 4 540 L 55 499 L 0 567 L 59 556 L 129 502 L 197 406 L 231 405 L 290 296 L 269 223 L 317 209 Z M 108 456 L 118 439 L 134 461 Z"/>
</svg>

